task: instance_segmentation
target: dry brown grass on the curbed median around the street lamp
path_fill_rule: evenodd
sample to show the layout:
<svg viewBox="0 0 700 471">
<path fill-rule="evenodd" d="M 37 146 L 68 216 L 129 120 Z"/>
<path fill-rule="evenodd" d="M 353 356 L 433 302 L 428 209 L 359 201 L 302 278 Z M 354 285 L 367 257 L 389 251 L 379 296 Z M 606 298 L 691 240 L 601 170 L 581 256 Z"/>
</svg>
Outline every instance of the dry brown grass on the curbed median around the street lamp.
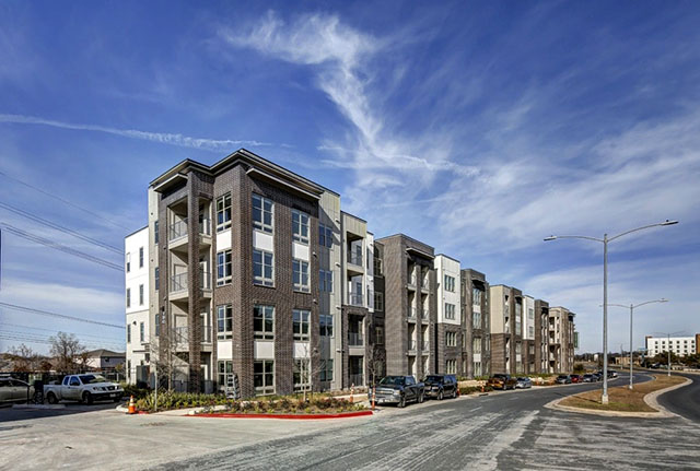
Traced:
<svg viewBox="0 0 700 471">
<path fill-rule="evenodd" d="M 660 389 L 668 388 L 684 382 L 686 378 L 681 376 L 653 375 L 654 380 L 634 385 L 634 389 L 629 389 L 628 385 L 608 389 L 609 403 L 600 403 L 600 390 L 581 392 L 570 396 L 560 402 L 561 405 L 570 408 L 592 409 L 596 411 L 618 411 L 618 412 L 658 412 L 644 402 L 644 396 Z"/>
</svg>

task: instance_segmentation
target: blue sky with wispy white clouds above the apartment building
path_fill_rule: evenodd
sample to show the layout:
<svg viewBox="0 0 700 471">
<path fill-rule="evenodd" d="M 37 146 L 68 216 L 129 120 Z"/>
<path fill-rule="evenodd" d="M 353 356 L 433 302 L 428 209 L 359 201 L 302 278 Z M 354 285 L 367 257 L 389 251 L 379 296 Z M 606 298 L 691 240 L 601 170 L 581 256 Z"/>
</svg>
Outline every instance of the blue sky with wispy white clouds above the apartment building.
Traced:
<svg viewBox="0 0 700 471">
<path fill-rule="evenodd" d="M 0 202 L 121 247 L 150 180 L 243 146 L 340 192 L 377 236 L 574 310 L 582 351 L 602 345 L 602 246 L 542 237 L 677 219 L 610 245 L 609 297 L 672 299 L 640 308 L 635 348 L 700 332 L 700 4 L 378 3 L 0 3 Z M 7 231 L 2 264 L 1 302 L 122 323 L 116 270 Z M 0 310 L 1 331 L 59 329 L 124 338 Z"/>
</svg>

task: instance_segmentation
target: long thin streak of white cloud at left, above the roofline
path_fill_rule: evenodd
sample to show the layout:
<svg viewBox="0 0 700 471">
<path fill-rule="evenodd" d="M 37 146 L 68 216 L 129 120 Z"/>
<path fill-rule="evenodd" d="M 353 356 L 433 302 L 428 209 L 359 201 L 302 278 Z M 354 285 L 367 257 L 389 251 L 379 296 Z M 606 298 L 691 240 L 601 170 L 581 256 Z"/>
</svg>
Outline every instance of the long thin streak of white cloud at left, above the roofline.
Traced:
<svg viewBox="0 0 700 471">
<path fill-rule="evenodd" d="M 0 114 L 0 122 L 11 122 L 15 125 L 39 125 L 50 126 L 60 129 L 72 129 L 79 131 L 96 131 L 106 132 L 108 134 L 120 136 L 122 138 L 140 139 L 144 141 L 158 142 L 161 144 L 178 145 L 180 148 L 199 149 L 212 152 L 229 152 L 232 146 L 252 145 L 268 146 L 276 145 L 269 142 L 259 142 L 250 140 L 232 140 L 232 139 L 206 139 L 191 138 L 179 133 L 170 132 L 150 132 L 137 129 L 118 129 L 98 125 L 82 125 L 73 122 L 57 121 L 54 119 L 45 119 L 35 116 L 24 115 L 7 115 Z"/>
</svg>

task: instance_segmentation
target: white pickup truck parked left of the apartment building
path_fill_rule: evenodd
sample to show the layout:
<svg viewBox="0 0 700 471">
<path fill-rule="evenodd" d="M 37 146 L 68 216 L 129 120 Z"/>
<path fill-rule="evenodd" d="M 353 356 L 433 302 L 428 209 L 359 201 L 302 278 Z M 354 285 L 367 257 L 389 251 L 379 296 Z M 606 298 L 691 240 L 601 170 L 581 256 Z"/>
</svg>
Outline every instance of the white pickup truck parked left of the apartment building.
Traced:
<svg viewBox="0 0 700 471">
<path fill-rule="evenodd" d="M 60 385 L 44 386 L 44 397 L 49 404 L 61 400 L 80 401 L 92 404 L 95 400 L 118 402 L 124 396 L 121 386 L 108 382 L 103 376 L 91 373 L 68 375 Z"/>
</svg>

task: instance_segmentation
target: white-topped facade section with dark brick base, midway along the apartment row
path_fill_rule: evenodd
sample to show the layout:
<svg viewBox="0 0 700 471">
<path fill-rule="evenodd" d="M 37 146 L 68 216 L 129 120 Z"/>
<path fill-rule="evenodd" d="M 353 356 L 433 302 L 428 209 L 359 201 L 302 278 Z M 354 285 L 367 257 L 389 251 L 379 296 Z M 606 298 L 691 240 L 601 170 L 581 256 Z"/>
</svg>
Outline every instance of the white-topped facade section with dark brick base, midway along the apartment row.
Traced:
<svg viewBox="0 0 700 471">
<path fill-rule="evenodd" d="M 459 261 L 446 255 L 434 259 L 438 317 L 435 321 L 435 372 L 462 373 L 462 286 Z"/>
</svg>

